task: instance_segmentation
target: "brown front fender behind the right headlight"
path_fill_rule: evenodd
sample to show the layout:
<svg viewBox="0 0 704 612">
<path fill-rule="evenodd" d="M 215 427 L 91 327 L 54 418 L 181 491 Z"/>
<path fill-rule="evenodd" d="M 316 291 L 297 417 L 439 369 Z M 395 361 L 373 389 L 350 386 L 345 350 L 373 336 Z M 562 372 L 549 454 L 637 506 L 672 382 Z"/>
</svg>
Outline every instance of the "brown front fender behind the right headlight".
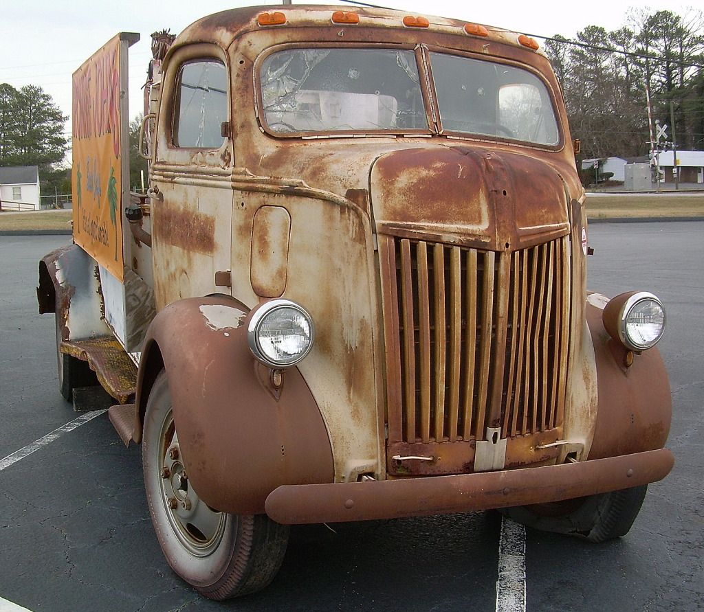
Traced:
<svg viewBox="0 0 704 612">
<path fill-rule="evenodd" d="M 589 459 L 656 450 L 665 446 L 672 419 L 670 381 L 657 348 L 634 355 L 604 329 L 605 301 L 590 296 L 586 319 L 596 358 L 598 412 Z"/>
</svg>

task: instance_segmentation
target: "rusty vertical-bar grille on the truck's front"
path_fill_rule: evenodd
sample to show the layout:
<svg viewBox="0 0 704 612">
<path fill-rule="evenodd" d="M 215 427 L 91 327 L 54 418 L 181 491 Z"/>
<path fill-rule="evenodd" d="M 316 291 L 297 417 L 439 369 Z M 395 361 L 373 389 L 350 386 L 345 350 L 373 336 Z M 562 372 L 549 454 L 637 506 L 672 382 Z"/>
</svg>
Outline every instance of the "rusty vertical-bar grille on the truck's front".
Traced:
<svg viewBox="0 0 704 612">
<path fill-rule="evenodd" d="M 559 426 L 568 238 L 514 253 L 379 236 L 389 442 Z"/>
</svg>

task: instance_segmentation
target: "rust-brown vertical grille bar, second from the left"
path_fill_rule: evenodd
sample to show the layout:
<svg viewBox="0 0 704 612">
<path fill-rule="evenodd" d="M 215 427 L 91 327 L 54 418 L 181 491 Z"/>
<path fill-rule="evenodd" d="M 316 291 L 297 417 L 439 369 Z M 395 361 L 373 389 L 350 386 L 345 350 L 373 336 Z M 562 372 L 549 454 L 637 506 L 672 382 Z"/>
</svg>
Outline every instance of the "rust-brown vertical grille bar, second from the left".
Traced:
<svg viewBox="0 0 704 612">
<path fill-rule="evenodd" d="M 401 241 L 401 305 L 403 311 L 403 404 L 406 440 L 415 442 L 415 323 L 413 317 L 413 262 L 410 241 Z"/>
</svg>

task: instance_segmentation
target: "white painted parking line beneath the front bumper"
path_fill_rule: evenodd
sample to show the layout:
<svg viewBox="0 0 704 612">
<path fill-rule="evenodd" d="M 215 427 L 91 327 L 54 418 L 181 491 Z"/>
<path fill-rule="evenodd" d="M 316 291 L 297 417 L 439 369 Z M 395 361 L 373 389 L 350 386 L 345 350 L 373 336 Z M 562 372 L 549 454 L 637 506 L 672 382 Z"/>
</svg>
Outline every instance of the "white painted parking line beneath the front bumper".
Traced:
<svg viewBox="0 0 704 612">
<path fill-rule="evenodd" d="M 496 612 L 525 612 L 526 530 L 505 516 L 498 542 Z"/>
</svg>

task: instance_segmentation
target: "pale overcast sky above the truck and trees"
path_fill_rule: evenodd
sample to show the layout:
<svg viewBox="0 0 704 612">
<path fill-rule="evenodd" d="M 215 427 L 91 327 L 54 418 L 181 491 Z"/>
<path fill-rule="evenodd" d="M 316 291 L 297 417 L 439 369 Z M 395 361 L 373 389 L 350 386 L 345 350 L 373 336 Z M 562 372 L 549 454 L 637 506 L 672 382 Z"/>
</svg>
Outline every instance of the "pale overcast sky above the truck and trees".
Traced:
<svg viewBox="0 0 704 612">
<path fill-rule="evenodd" d="M 234 0 L 0 0 L 0 83 L 13 87 L 35 84 L 49 93 L 65 115 L 71 112 L 71 75 L 94 51 L 117 32 L 139 32 L 142 39 L 130 48 L 130 117 L 142 110 L 139 91 L 151 57 L 151 32 L 170 28 L 177 34 L 196 19 L 236 6 L 262 4 Z M 263 4 L 279 4 L 267 0 Z M 294 4 L 302 4 L 294 0 Z M 331 4 L 331 3 L 326 3 Z M 574 37 L 587 25 L 616 30 L 627 23 L 634 0 L 370 0 L 413 13 L 430 13 L 506 27 L 509 30 Z M 350 6 L 347 4 L 346 6 Z M 679 4 L 649 1 L 651 11 L 680 14 L 685 6 L 704 10 L 704 0 Z M 66 127 L 70 131 L 70 122 Z"/>
</svg>

